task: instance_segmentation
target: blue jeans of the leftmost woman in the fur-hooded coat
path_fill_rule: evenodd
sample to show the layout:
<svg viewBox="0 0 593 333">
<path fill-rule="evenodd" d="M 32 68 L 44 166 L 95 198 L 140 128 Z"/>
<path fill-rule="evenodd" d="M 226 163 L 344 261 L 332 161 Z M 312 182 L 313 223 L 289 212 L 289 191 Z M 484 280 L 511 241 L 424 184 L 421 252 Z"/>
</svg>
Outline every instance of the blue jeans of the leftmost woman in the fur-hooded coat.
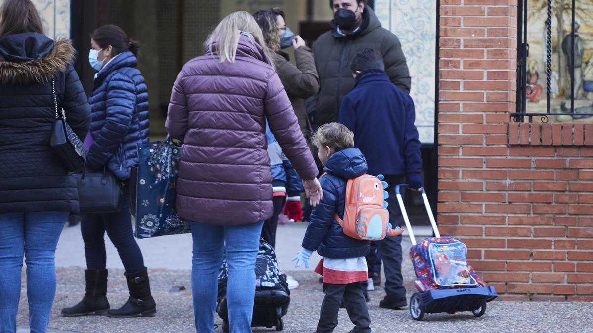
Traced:
<svg viewBox="0 0 593 333">
<path fill-rule="evenodd" d="M 0 332 L 17 331 L 23 255 L 31 332 L 45 332 L 56 294 L 56 246 L 68 212 L 0 214 Z"/>
</svg>

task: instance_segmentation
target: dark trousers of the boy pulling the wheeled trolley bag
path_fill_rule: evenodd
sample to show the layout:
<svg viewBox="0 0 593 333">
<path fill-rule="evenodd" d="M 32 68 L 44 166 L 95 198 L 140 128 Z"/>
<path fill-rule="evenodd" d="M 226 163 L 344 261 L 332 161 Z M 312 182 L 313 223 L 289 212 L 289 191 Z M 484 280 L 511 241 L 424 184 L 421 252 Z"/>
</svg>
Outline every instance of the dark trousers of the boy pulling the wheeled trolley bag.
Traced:
<svg viewBox="0 0 593 333">
<path fill-rule="evenodd" d="M 397 203 L 396 185 L 406 181 L 403 175 L 385 175 L 385 181 L 389 184 L 387 192 L 389 198 L 389 220 L 393 228 L 404 225 L 404 218 L 401 215 L 400 206 Z M 402 189 L 401 195 L 405 200 L 405 189 Z M 406 287 L 403 286 L 403 277 L 401 276 L 401 260 L 403 259 L 401 250 L 401 235 L 394 237 L 385 237 L 379 242 L 381 257 L 385 269 L 385 293 L 390 299 L 405 300 Z"/>
</svg>

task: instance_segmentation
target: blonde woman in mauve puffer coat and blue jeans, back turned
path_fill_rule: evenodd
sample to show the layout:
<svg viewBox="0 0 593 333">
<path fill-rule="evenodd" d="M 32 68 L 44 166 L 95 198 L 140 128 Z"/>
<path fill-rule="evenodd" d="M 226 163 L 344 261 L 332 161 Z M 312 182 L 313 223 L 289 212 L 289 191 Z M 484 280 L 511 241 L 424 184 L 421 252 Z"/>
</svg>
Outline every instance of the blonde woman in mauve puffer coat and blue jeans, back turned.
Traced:
<svg viewBox="0 0 593 333">
<path fill-rule="evenodd" d="M 259 238 L 263 220 L 272 216 L 266 119 L 313 204 L 321 187 L 254 18 L 244 11 L 228 15 L 205 47 L 206 55 L 190 60 L 178 75 L 165 124 L 183 141 L 177 212 L 192 220 L 196 331 L 214 331 L 226 242 L 230 330 L 251 332 Z"/>
</svg>

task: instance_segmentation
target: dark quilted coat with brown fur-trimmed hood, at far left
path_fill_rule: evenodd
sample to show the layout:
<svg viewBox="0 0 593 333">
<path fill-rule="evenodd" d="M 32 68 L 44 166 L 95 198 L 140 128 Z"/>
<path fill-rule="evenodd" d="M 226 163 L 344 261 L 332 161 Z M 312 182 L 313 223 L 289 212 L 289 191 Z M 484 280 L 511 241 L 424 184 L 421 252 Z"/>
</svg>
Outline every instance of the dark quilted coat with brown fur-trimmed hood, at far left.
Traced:
<svg viewBox="0 0 593 333">
<path fill-rule="evenodd" d="M 67 39 L 21 33 L 0 38 L 0 214 L 59 210 L 78 212 L 74 175 L 50 146 L 58 109 L 80 139 L 91 108 Z M 0 241 L 2 242 L 2 241 Z"/>
</svg>

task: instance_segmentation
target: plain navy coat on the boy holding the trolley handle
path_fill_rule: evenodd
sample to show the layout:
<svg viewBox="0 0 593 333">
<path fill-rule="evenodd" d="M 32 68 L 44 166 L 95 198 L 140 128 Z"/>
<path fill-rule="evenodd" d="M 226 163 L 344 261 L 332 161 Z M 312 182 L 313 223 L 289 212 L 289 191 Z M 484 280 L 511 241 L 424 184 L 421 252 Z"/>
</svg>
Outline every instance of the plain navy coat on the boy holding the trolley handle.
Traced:
<svg viewBox="0 0 593 333">
<path fill-rule="evenodd" d="M 383 71 L 369 69 L 356 76 L 342 101 L 338 122 L 354 132 L 356 147 L 371 175 L 419 174 L 420 140 L 414 124 L 414 101 Z"/>
</svg>

